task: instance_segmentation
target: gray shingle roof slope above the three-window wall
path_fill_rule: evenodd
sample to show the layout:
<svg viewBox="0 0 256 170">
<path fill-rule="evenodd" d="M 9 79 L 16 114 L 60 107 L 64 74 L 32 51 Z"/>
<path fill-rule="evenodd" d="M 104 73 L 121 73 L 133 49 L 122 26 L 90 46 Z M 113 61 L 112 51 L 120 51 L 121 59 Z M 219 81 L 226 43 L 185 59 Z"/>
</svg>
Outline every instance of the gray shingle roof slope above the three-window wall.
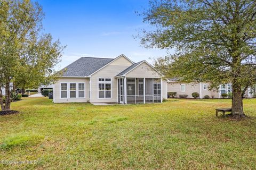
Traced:
<svg viewBox="0 0 256 170">
<path fill-rule="evenodd" d="M 81 57 L 62 69 L 62 71 L 66 70 L 63 72 L 62 77 L 89 76 L 113 60 L 113 58 Z"/>
</svg>

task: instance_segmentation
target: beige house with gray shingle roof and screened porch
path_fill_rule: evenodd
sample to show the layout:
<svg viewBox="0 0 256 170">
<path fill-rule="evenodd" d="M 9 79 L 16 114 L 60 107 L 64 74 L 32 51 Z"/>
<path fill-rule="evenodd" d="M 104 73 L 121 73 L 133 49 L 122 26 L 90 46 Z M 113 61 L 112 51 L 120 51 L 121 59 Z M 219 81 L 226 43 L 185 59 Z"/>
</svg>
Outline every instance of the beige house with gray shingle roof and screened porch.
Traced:
<svg viewBox="0 0 256 170">
<path fill-rule="evenodd" d="M 54 103 L 161 103 L 167 82 L 146 61 L 81 57 L 68 65 L 53 86 Z"/>
</svg>

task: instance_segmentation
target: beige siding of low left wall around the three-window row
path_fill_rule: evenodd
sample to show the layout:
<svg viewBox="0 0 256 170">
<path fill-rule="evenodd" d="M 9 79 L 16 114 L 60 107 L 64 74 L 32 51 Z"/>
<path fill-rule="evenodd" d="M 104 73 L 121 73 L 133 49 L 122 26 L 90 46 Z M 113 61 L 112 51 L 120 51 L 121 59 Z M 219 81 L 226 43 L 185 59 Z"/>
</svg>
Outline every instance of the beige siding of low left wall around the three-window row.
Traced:
<svg viewBox="0 0 256 170">
<path fill-rule="evenodd" d="M 60 98 L 60 83 L 85 83 L 85 98 Z M 60 78 L 54 84 L 54 103 L 87 102 L 89 101 L 90 78 Z M 78 87 L 76 87 L 78 88 Z"/>
</svg>

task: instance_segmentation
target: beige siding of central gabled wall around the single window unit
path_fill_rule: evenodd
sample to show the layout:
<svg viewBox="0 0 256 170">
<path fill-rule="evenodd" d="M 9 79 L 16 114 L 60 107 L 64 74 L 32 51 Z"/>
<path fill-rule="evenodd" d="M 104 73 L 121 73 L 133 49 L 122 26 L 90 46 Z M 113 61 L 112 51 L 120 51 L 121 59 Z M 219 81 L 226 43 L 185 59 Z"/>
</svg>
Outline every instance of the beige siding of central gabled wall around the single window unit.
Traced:
<svg viewBox="0 0 256 170">
<path fill-rule="evenodd" d="M 91 76 L 91 103 L 115 103 L 117 102 L 117 79 L 114 78 L 118 73 L 131 66 L 132 63 L 125 57 L 121 56 L 114 62 L 103 67 L 103 69 L 94 73 Z M 98 98 L 98 79 L 99 78 L 111 78 L 111 98 Z"/>
</svg>

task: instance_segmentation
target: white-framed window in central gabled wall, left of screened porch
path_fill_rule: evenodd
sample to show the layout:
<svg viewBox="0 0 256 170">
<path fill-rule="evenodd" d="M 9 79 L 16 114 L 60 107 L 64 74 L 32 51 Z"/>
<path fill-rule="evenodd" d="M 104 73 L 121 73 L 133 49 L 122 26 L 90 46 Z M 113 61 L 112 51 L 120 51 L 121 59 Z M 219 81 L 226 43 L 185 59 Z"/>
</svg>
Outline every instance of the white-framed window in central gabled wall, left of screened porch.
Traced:
<svg viewBox="0 0 256 170">
<path fill-rule="evenodd" d="M 99 98 L 111 98 L 111 79 L 99 78 L 98 91 Z"/>
</svg>

